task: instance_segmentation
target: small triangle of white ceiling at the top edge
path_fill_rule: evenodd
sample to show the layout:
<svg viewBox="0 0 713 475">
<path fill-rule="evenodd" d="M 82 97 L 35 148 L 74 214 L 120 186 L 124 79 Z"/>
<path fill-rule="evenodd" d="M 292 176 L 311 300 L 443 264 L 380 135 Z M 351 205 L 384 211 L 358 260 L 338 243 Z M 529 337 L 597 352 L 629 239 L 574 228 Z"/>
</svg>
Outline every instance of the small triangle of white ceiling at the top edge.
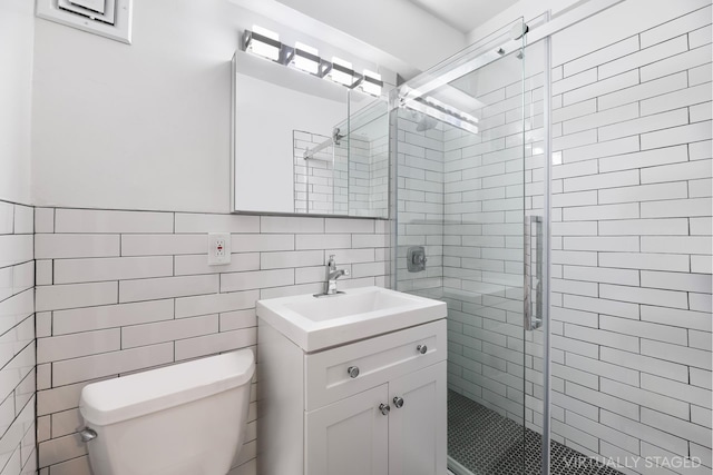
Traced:
<svg viewBox="0 0 713 475">
<path fill-rule="evenodd" d="M 518 0 L 409 0 L 463 34 L 468 34 Z"/>
</svg>

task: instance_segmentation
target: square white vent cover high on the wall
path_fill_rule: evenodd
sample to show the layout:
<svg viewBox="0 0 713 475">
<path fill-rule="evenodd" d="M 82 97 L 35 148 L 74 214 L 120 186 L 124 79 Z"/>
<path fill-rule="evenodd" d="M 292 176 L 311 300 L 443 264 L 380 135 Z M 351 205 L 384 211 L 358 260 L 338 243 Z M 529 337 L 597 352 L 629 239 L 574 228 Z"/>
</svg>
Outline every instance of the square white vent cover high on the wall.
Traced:
<svg viewBox="0 0 713 475">
<path fill-rule="evenodd" d="M 37 0 L 37 16 L 131 43 L 133 0 Z"/>
</svg>

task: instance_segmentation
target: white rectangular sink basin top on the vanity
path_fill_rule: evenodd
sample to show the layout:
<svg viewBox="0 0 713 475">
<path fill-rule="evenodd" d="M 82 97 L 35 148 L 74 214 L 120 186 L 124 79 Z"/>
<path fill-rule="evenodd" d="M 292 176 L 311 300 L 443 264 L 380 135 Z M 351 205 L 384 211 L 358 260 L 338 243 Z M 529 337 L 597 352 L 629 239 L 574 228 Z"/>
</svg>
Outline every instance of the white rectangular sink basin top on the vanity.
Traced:
<svg viewBox="0 0 713 475">
<path fill-rule="evenodd" d="M 445 318 L 446 304 L 362 287 L 329 297 L 257 300 L 257 316 L 310 353 Z"/>
</svg>

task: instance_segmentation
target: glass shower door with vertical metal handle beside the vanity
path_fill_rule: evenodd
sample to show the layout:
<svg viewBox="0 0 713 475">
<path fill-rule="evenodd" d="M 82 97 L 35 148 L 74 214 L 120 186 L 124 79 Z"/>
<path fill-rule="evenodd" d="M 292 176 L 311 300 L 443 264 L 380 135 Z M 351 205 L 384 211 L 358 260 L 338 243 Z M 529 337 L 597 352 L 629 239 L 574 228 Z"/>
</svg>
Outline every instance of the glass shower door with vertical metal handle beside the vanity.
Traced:
<svg viewBox="0 0 713 475">
<path fill-rule="evenodd" d="M 522 31 L 517 22 L 407 82 L 395 111 L 394 285 L 448 304 L 459 475 L 539 473 L 544 95 Z"/>
</svg>

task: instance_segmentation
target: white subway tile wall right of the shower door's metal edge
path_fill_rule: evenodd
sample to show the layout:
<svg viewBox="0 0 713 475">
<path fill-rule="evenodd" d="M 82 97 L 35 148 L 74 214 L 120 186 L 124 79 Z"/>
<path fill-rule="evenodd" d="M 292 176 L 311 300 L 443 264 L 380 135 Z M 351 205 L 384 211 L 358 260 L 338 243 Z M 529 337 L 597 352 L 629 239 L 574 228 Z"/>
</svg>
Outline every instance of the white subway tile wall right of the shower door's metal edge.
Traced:
<svg viewBox="0 0 713 475">
<path fill-rule="evenodd" d="M 553 197 L 554 216 L 574 225 L 553 226 L 554 240 L 567 251 L 553 256 L 566 279 L 555 280 L 561 300 L 553 297 L 553 318 L 564 324 L 564 338 L 554 338 L 553 348 L 573 370 L 558 376 L 565 395 L 600 408 L 585 414 L 584 406 L 554 397 L 565 414 L 553 426 L 555 436 L 600 456 L 697 452 L 707 471 L 711 11 L 709 4 L 557 65 L 563 81 L 592 68 L 597 80 L 563 89 L 565 107 L 554 113 L 563 165 L 555 164 L 554 176 L 564 180 Z M 589 127 L 596 142 L 577 147 Z M 596 164 L 589 172 L 567 168 L 587 162 Z M 596 191 L 596 202 L 577 200 L 586 190 Z M 595 286 L 594 296 L 580 295 L 587 286 Z M 583 355 L 573 342 L 595 350 Z M 594 375 L 596 385 L 575 370 Z M 598 445 L 585 445 L 583 432 Z"/>
</svg>

